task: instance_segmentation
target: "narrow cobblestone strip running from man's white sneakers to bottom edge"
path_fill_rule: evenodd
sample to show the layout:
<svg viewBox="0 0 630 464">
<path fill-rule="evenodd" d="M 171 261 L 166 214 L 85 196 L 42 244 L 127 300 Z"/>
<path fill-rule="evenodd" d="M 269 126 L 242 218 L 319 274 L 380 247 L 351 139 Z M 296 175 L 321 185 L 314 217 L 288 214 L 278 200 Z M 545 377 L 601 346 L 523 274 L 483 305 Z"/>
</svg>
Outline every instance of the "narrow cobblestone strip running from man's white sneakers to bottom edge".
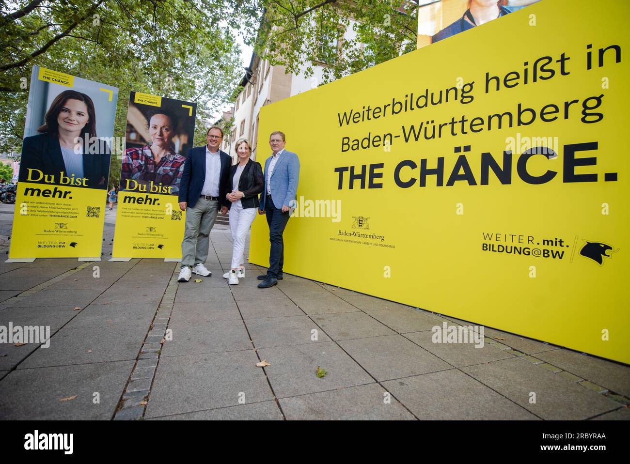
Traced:
<svg viewBox="0 0 630 464">
<path fill-rule="evenodd" d="M 144 419 L 144 412 L 149 400 L 149 393 L 155 377 L 157 361 L 162 353 L 162 344 L 175 303 L 179 266 L 173 271 L 171 280 L 164 291 L 162 301 L 157 308 L 149 332 L 140 347 L 134 369 L 131 371 L 125 391 L 122 394 L 114 414 L 115 421 L 134 421 Z"/>
</svg>

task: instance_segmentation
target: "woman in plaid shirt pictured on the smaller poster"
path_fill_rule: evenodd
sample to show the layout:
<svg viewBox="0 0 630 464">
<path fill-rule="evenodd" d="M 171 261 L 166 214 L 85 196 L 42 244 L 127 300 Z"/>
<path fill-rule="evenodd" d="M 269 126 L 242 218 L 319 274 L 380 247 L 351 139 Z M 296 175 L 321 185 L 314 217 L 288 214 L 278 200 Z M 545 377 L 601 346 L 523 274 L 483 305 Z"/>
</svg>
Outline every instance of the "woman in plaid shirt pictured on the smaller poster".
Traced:
<svg viewBox="0 0 630 464">
<path fill-rule="evenodd" d="M 159 186 L 159 193 L 164 187 L 171 186 L 170 194 L 180 191 L 181 174 L 186 157 L 173 149 L 173 137 L 176 135 L 178 121 L 168 110 L 156 110 L 149 118 L 149 138 L 151 144 L 125 150 L 120 171 L 121 190 L 135 190 L 137 184 L 153 183 Z M 134 180 L 128 187 L 127 179 Z M 145 191 L 145 190 L 142 190 Z M 146 190 L 150 191 L 150 190 Z"/>
</svg>

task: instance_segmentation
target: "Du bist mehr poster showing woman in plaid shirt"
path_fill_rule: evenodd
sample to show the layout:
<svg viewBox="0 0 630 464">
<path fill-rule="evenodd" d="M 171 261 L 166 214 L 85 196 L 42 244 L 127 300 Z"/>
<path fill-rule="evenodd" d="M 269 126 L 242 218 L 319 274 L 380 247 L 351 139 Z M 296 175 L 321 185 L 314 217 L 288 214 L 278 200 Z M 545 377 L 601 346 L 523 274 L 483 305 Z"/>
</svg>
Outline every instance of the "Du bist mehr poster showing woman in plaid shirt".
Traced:
<svg viewBox="0 0 630 464">
<path fill-rule="evenodd" d="M 112 257 L 181 259 L 178 195 L 197 105 L 131 92 Z"/>
</svg>

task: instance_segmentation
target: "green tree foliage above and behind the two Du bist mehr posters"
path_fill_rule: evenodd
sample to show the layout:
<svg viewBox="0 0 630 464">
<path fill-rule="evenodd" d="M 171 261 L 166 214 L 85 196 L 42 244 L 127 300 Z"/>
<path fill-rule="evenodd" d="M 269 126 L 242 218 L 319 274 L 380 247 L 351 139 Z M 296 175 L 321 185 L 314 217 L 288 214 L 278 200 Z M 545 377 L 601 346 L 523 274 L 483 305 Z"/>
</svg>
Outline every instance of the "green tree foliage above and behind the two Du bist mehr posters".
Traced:
<svg viewBox="0 0 630 464">
<path fill-rule="evenodd" d="M 241 0 L 0 0 L 0 152 L 21 150 L 35 64 L 117 86 L 118 137 L 132 90 L 193 101 L 197 120 L 209 120 L 242 77 L 233 31 L 255 31 L 257 8 Z"/>
</svg>

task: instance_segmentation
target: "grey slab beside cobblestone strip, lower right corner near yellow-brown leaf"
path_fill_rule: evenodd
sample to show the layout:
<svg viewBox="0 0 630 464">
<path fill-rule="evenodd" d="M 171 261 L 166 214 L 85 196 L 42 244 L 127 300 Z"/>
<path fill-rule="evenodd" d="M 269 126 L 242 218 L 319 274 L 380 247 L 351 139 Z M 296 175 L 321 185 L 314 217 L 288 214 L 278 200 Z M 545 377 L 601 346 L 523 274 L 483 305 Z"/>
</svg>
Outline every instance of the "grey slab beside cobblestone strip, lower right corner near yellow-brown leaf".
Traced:
<svg viewBox="0 0 630 464">
<path fill-rule="evenodd" d="M 211 320 L 174 322 L 169 325 L 173 340 L 165 341 L 162 356 L 217 353 L 252 349 L 249 335 L 242 320 Z"/>
</svg>

